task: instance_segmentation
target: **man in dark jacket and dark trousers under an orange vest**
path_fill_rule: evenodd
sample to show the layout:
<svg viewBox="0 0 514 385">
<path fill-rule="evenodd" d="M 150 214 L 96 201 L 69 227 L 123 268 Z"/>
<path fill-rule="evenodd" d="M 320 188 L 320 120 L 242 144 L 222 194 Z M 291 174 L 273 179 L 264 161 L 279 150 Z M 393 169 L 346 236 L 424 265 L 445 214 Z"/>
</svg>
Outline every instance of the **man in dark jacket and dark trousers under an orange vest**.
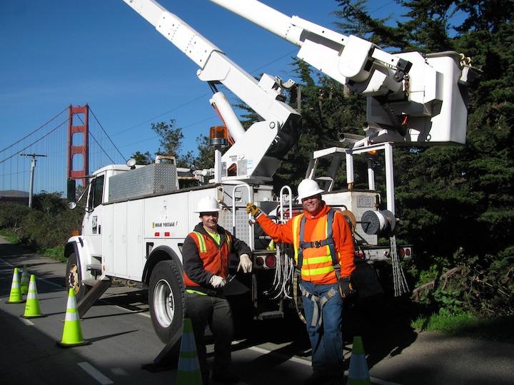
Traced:
<svg viewBox="0 0 514 385">
<path fill-rule="evenodd" d="M 218 226 L 220 211 L 213 197 L 202 197 L 196 210 L 201 222 L 186 237 L 182 247 L 186 316 L 193 325 L 204 385 L 209 379 L 204 342 L 207 324 L 215 339 L 213 381 L 225 384 L 239 381 L 231 369 L 232 312 L 222 288 L 227 283 L 231 253 L 239 256 L 238 270 L 246 273 L 252 269 L 250 247 Z"/>
</svg>

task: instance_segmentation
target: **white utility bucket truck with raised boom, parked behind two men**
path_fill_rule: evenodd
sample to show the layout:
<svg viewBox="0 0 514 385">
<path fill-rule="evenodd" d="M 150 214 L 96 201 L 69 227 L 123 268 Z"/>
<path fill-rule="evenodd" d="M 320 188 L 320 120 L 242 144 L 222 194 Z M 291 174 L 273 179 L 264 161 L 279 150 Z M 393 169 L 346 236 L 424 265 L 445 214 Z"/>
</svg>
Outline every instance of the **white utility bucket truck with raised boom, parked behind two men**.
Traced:
<svg viewBox="0 0 514 385">
<path fill-rule="evenodd" d="M 211 128 L 211 143 L 216 148 L 211 170 L 191 172 L 177 168 L 173 158 L 167 163 L 158 158 L 151 165 L 108 165 L 93 173 L 85 192 L 81 235 L 71 237 L 65 248 L 69 261 L 66 282 L 79 297 L 79 313 L 91 307 L 112 279 L 141 282 L 148 287 L 156 334 L 168 344 L 176 341 L 183 321 L 181 247 L 198 222 L 193 212 L 198 200 L 208 195 L 223 207 L 219 224 L 253 250 L 254 268 L 247 291 L 254 316 L 282 317 L 293 297 L 291 248 L 270 245 L 245 207 L 247 202 L 256 202 L 279 222 L 298 210 L 291 188 L 284 186 L 276 197 L 271 183 L 300 134 L 301 116 L 284 103 L 283 96 L 293 82 L 284 83 L 266 73 L 256 81 L 156 1 L 124 1 L 198 65 L 198 78 L 211 86 L 211 104 L 224 125 Z M 398 257 L 390 231 L 395 222 L 392 146 L 464 142 L 468 64 L 451 52 L 392 55 L 356 36 L 343 36 L 296 16 L 289 18 L 258 1 L 216 2 L 233 6 L 238 14 L 251 16 L 254 22 L 301 46 L 300 58 L 368 98 L 366 135 L 347 136 L 348 148 L 316 151 L 306 175 L 325 183 L 323 200 L 328 205 L 350 210 L 356 222 L 366 222 L 363 229 L 356 228 L 360 243 L 366 244 L 361 247 L 367 250 L 366 259 Z M 219 83 L 261 120 L 244 130 L 226 96 L 217 91 Z M 228 143 L 227 130 L 233 144 L 222 155 L 221 147 Z M 371 165 L 369 190 L 353 189 L 353 156 L 374 150 L 385 152 L 388 210 L 378 210 L 380 197 L 374 190 Z M 332 158 L 329 175 L 316 174 L 323 157 Z M 336 190 L 333 182 L 343 160 L 348 185 Z M 391 247 L 376 246 L 381 231 L 392 235 Z"/>
</svg>

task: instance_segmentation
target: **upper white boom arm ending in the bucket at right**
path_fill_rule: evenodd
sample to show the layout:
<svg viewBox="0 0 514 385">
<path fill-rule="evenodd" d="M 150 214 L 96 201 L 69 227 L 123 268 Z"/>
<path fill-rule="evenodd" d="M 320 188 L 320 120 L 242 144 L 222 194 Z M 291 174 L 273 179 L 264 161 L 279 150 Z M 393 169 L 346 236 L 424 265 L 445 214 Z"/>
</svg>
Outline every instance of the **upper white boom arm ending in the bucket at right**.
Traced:
<svg viewBox="0 0 514 385">
<path fill-rule="evenodd" d="M 465 142 L 470 66 L 457 53 L 391 54 L 257 0 L 211 1 L 300 46 L 298 58 L 368 97 L 371 141 Z"/>
</svg>

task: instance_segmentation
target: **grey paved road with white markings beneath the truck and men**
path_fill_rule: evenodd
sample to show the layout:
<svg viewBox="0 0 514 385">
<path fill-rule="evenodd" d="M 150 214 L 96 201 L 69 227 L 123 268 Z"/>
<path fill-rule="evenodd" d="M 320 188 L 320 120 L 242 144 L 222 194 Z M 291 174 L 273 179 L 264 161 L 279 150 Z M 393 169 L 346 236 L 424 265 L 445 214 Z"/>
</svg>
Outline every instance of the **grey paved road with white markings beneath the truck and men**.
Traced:
<svg viewBox="0 0 514 385">
<path fill-rule="evenodd" d="M 6 304 L 13 267 L 24 264 L 38 277 L 41 309 L 48 316 L 31 322 L 19 318 L 24 304 Z M 89 310 L 81 325 L 91 345 L 56 347 L 66 308 L 64 270 L 65 264 L 25 253 L 0 238 L 0 383 L 174 384 L 174 370 L 141 370 L 163 345 L 151 327 L 146 292 L 138 289 L 113 287 Z M 365 335 L 373 384 L 514 384 L 513 344 L 416 334 L 408 322 L 383 316 L 368 322 L 375 325 Z M 301 384 L 311 373 L 301 326 L 267 322 L 248 328 L 246 338 L 233 346 L 241 384 Z"/>
</svg>

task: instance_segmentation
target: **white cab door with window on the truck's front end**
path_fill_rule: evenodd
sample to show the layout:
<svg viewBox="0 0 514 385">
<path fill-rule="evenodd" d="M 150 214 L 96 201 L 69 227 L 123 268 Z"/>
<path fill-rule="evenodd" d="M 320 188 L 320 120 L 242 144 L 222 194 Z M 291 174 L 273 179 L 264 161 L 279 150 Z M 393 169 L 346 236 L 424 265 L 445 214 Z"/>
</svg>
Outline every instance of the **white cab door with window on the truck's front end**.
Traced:
<svg viewBox="0 0 514 385">
<path fill-rule="evenodd" d="M 84 235 L 91 249 L 91 255 L 101 256 L 102 209 L 104 201 L 105 174 L 97 175 L 89 185 Z"/>
</svg>

